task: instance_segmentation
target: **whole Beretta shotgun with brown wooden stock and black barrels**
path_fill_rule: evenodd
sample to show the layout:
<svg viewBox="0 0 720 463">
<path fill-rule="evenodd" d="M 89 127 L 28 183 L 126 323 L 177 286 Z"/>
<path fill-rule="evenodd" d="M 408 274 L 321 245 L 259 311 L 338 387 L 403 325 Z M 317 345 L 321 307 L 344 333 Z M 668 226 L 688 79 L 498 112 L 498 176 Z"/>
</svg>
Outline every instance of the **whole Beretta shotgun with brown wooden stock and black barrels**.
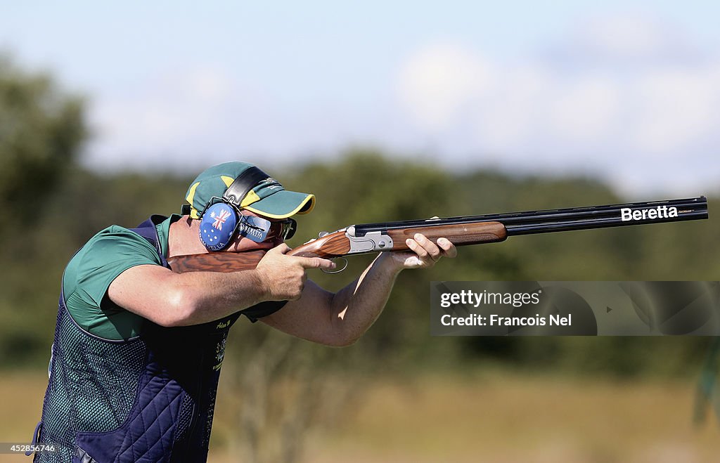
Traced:
<svg viewBox="0 0 720 463">
<path fill-rule="evenodd" d="M 600 229 L 708 218 L 705 196 L 644 203 L 613 204 L 445 219 L 419 219 L 347 226 L 320 233 L 288 255 L 333 259 L 368 252 L 405 251 L 405 239 L 422 233 L 433 242 L 444 237 L 456 246 L 505 241 L 523 234 Z M 168 259 L 174 272 L 236 272 L 256 267 L 265 251 L 209 252 Z"/>
</svg>

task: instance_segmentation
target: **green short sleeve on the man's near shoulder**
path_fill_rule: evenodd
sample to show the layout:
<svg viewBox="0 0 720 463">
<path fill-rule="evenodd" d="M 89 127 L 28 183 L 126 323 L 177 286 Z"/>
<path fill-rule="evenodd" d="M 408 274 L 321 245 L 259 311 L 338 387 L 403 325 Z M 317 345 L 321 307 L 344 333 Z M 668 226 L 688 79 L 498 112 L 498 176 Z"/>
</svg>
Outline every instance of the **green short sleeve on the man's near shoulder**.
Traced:
<svg viewBox="0 0 720 463">
<path fill-rule="evenodd" d="M 145 318 L 112 303 L 107 288 L 117 275 L 135 265 L 161 265 L 156 249 L 122 226 L 102 230 L 71 259 L 63 275 L 68 312 L 85 331 L 104 339 L 140 334 Z"/>
</svg>

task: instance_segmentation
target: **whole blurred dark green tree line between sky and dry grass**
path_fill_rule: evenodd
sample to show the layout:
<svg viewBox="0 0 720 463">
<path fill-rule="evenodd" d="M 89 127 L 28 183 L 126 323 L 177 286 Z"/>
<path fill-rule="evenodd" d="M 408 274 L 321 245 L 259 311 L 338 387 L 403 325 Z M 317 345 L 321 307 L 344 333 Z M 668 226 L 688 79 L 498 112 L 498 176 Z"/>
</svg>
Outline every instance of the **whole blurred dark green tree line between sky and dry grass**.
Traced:
<svg viewBox="0 0 720 463">
<path fill-rule="evenodd" d="M 110 224 L 135 226 L 150 214 L 179 212 L 194 178 L 194 173 L 101 174 L 81 168 L 78 153 L 88 132 L 82 98 L 62 91 L 48 75 L 27 73 L 6 58 L 0 60 L 4 369 L 40 370 L 48 362 L 60 277 L 73 252 Z M 339 160 L 295 168 L 260 167 L 286 188 L 318 198 L 315 211 L 300 216 L 291 247 L 321 230 L 363 222 L 653 199 L 620 198 L 592 178 L 518 177 L 492 170 L 451 173 L 438 165 L 393 160 L 377 150 L 350 150 Z M 248 442 L 243 445 L 250 448 L 247 460 L 261 453 L 257 447 L 263 444 L 256 438 L 269 422 L 276 423 L 276 431 L 284 436 L 279 451 L 297 454 L 302 435 L 298 428 L 318 419 L 318 405 L 330 396 L 343 400 L 361 387 L 361 375 L 352 384 L 338 385 L 327 371 L 462 370 L 492 364 L 618 377 L 696 374 L 709 344 L 706 338 L 431 338 L 429 282 L 719 280 L 719 223 L 566 232 L 464 247 L 455 260 L 430 270 L 403 272 L 384 314 L 363 339 L 346 349 L 289 339 L 243 319 L 230 335 L 224 381 L 235 386 L 228 390 L 243 390 L 250 398 L 238 405 L 239 425 L 247 430 L 243 436 Z M 337 290 L 371 259 L 352 257 L 345 272 L 312 272 L 310 278 Z M 286 393 L 269 400 L 270 385 L 278 380 Z M 323 388 L 333 388 L 333 393 L 324 394 Z M 297 405 L 298 398 L 305 405 Z M 234 395 L 225 399 L 239 400 Z M 288 418 L 287 413 L 294 416 Z M 280 418 L 273 421 L 272 416 Z M 214 439 L 223 439 L 222 433 Z"/>
</svg>

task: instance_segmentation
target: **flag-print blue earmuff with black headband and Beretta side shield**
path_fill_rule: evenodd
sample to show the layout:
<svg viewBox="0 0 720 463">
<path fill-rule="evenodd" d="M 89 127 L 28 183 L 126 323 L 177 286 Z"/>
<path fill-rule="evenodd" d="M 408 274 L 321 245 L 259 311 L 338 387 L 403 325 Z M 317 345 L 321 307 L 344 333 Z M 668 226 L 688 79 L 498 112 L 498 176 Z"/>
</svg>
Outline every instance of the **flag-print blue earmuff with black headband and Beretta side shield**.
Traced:
<svg viewBox="0 0 720 463">
<path fill-rule="evenodd" d="M 269 175 L 253 167 L 241 173 L 228 187 L 222 198 L 211 198 L 200 214 L 200 242 L 208 251 L 222 251 L 228 247 L 235 232 L 254 242 L 264 241 L 269 234 L 283 234 L 292 237 L 295 221 L 287 219 L 271 222 L 261 217 L 240 214 L 243 198 Z"/>
</svg>

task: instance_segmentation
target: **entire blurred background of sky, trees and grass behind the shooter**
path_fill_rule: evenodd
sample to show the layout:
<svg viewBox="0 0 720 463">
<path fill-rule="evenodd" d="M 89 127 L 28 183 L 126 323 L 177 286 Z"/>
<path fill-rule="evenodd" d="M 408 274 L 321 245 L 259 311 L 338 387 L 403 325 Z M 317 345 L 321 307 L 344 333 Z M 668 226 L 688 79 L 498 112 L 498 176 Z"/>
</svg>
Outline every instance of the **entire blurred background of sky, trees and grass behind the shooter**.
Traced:
<svg viewBox="0 0 720 463">
<path fill-rule="evenodd" d="M 720 7 L 5 3 L 0 441 L 40 418 L 64 265 L 254 162 L 348 224 L 720 194 Z M 212 462 L 710 462 L 714 339 L 435 338 L 432 280 L 719 280 L 715 219 L 460 249 L 329 349 L 241 320 Z M 346 272 L 310 278 L 331 290 Z M 693 424 L 693 412 L 706 419 Z M 0 455 L 2 461 L 24 457 Z M 27 461 L 27 460 L 26 460 Z"/>
</svg>

